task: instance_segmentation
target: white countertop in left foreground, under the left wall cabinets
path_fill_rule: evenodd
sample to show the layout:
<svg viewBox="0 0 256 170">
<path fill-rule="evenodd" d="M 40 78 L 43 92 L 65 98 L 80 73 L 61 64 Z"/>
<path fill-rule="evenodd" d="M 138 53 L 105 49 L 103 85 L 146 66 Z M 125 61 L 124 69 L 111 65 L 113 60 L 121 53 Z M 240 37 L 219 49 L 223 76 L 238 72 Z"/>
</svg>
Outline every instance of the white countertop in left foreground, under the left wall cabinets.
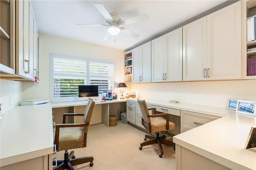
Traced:
<svg viewBox="0 0 256 170">
<path fill-rule="evenodd" d="M 0 119 L 0 166 L 52 154 L 52 106 L 16 106 Z"/>
</svg>

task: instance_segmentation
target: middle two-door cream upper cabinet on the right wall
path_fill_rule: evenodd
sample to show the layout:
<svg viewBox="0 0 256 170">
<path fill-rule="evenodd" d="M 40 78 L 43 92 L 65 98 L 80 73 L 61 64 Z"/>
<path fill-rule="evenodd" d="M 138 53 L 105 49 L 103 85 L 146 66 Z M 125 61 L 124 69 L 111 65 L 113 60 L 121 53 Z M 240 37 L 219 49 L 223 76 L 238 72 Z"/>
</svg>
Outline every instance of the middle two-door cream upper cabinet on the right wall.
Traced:
<svg viewBox="0 0 256 170">
<path fill-rule="evenodd" d="M 182 81 L 182 28 L 151 41 L 152 82 Z"/>
</svg>

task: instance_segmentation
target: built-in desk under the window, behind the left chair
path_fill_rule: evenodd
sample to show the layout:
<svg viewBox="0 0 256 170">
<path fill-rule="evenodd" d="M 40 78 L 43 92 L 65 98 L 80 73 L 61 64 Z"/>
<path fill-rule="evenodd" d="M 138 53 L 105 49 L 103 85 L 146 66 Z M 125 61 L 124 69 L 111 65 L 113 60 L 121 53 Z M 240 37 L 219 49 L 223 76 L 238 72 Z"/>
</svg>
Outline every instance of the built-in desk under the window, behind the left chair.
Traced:
<svg viewBox="0 0 256 170">
<path fill-rule="evenodd" d="M 63 113 L 84 113 L 84 110 L 86 108 L 87 102 L 84 101 L 74 101 L 74 102 L 52 102 L 52 108 L 53 111 L 56 108 L 67 108 L 68 109 L 63 109 L 61 111 L 62 114 Z M 126 99 L 117 99 L 117 100 L 104 100 L 104 102 L 102 102 L 101 100 L 96 100 L 95 102 L 96 106 L 94 107 L 94 111 L 92 113 L 92 120 L 91 120 L 91 124 L 96 124 L 96 123 L 103 123 L 104 125 L 106 125 L 106 127 L 109 126 L 109 115 L 110 114 L 117 114 L 118 108 L 125 107 L 126 106 Z M 55 111 L 54 111 L 55 113 Z M 61 122 L 57 122 L 58 123 L 62 123 L 62 114 L 61 113 L 56 113 L 57 115 L 60 115 Z M 98 114 L 100 119 L 98 120 L 94 120 L 95 116 L 97 116 Z M 79 120 L 74 120 L 75 123 L 80 123 Z"/>
</svg>

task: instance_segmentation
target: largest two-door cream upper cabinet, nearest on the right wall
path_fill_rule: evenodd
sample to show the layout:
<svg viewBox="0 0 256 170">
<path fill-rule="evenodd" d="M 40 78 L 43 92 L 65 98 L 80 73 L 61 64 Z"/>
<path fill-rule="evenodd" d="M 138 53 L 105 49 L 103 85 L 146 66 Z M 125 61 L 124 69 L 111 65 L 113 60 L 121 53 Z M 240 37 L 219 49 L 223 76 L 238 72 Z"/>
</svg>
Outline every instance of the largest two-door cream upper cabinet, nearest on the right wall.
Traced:
<svg viewBox="0 0 256 170">
<path fill-rule="evenodd" d="M 241 78 L 241 2 L 183 27 L 183 80 Z"/>
</svg>

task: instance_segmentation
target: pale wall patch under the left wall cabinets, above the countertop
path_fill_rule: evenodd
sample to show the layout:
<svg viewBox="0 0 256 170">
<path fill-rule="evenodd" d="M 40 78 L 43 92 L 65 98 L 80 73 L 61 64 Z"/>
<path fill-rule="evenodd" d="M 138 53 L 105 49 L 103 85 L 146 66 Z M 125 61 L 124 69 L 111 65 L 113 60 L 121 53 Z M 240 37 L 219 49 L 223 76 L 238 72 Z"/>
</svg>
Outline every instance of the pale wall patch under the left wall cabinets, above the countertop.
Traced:
<svg viewBox="0 0 256 170">
<path fill-rule="evenodd" d="M 18 106 L 22 98 L 22 82 L 0 79 L 0 103 L 1 111 Z"/>
</svg>

